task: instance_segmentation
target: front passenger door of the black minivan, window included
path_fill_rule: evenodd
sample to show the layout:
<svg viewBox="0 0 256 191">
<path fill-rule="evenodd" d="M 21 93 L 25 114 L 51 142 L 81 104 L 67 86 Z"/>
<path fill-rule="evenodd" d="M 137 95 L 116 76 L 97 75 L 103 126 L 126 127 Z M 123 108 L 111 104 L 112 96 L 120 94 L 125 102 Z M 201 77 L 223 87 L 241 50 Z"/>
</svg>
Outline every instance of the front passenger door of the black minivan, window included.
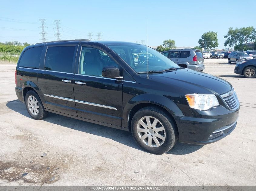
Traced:
<svg viewBox="0 0 256 191">
<path fill-rule="evenodd" d="M 80 52 L 73 81 L 78 117 L 121 126 L 123 81 L 104 78 L 101 72 L 108 65 L 123 69 L 97 47 L 81 46 Z"/>
</svg>

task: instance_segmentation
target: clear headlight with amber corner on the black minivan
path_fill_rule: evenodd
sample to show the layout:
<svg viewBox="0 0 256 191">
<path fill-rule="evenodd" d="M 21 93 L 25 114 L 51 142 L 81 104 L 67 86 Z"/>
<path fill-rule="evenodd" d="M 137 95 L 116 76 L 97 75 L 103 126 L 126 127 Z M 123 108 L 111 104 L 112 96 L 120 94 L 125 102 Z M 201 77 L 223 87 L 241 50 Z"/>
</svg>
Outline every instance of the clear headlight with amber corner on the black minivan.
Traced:
<svg viewBox="0 0 256 191">
<path fill-rule="evenodd" d="M 185 97 L 189 106 L 197 110 L 208 110 L 219 105 L 214 94 L 187 94 Z"/>
</svg>

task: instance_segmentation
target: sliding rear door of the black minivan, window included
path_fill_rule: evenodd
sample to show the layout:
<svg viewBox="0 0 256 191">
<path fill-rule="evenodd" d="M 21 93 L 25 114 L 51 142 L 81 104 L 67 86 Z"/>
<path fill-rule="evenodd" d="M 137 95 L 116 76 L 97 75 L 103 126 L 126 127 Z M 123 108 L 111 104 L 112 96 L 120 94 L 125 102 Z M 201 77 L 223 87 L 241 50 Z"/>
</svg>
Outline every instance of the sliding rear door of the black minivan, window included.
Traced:
<svg viewBox="0 0 256 191">
<path fill-rule="evenodd" d="M 49 110 L 77 116 L 73 77 L 77 45 L 45 46 L 43 65 L 38 71 L 38 85 Z"/>
</svg>

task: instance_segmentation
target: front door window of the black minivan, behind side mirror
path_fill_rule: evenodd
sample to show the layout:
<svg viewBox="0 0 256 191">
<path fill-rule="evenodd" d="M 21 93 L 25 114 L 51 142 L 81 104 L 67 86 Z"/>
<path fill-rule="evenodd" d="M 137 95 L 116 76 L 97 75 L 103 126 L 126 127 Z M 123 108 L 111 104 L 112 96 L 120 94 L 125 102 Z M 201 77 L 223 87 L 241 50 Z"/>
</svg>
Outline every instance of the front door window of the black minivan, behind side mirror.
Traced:
<svg viewBox="0 0 256 191">
<path fill-rule="evenodd" d="M 102 68 L 105 66 L 118 67 L 106 53 L 91 47 L 82 47 L 79 61 L 79 74 L 89 76 L 102 76 Z"/>
</svg>

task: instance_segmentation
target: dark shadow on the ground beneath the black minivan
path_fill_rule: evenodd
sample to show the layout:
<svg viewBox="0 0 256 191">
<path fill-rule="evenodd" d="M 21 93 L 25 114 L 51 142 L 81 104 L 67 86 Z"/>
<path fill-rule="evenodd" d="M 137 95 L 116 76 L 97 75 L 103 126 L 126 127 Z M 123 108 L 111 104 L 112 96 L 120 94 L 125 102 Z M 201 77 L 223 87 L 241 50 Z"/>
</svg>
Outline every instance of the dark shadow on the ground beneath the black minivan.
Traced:
<svg viewBox="0 0 256 191">
<path fill-rule="evenodd" d="M 6 103 L 6 106 L 20 114 L 22 114 L 25 117 L 32 118 L 25 107 L 25 104 L 22 103 L 19 100 L 12 100 Z M 73 119 L 70 117 L 58 115 L 55 113 L 49 113 L 49 115 L 42 119 L 43 121 L 47 121 L 49 123 L 54 123 L 60 126 L 65 126 L 70 129 L 74 129 L 81 132 L 90 133 L 93 135 L 110 138 L 116 142 L 119 142 L 121 144 L 127 145 L 132 148 L 136 148 L 138 150 L 141 150 L 138 145 L 135 143 L 135 141 L 132 138 L 132 135 L 130 132 L 114 129 L 106 126 L 97 125 L 94 123 L 88 123 L 85 121 Z M 177 143 L 174 148 L 171 149 L 171 151 L 168 151 L 168 154 L 189 154 L 194 151 L 197 151 L 198 149 L 202 148 L 203 145 L 189 145 L 184 143 Z"/>
</svg>

